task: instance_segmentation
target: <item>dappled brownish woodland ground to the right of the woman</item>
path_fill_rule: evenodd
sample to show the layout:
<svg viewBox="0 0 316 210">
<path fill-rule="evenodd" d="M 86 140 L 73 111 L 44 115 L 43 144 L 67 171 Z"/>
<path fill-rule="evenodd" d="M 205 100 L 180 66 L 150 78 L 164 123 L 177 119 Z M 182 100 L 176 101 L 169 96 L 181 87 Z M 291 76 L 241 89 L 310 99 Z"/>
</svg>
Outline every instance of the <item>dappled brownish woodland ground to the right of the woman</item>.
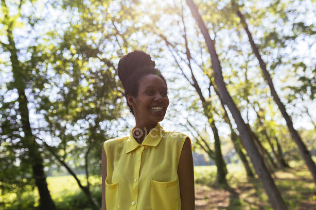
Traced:
<svg viewBox="0 0 316 210">
<path fill-rule="evenodd" d="M 316 187 L 306 166 L 283 169 L 274 180 L 289 210 L 316 210 Z M 272 210 L 258 178 L 234 174 L 230 188 L 195 184 L 195 210 Z"/>
</svg>

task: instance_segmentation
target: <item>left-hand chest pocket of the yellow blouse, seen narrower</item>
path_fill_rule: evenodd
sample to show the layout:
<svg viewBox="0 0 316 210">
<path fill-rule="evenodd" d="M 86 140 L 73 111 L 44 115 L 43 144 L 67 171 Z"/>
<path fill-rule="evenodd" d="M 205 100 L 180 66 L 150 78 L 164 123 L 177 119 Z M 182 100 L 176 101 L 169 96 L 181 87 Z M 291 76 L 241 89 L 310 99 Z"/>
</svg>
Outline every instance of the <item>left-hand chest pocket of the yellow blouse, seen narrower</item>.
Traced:
<svg viewBox="0 0 316 210">
<path fill-rule="evenodd" d="M 117 210 L 119 182 L 109 184 L 105 178 L 105 203 L 106 210 Z"/>
</svg>

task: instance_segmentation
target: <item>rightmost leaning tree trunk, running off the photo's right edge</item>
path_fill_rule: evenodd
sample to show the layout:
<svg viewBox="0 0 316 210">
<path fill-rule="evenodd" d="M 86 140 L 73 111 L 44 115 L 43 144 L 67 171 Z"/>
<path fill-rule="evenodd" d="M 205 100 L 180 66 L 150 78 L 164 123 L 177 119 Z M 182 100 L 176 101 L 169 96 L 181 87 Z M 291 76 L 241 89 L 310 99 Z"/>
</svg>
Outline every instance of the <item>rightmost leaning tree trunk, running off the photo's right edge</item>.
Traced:
<svg viewBox="0 0 316 210">
<path fill-rule="evenodd" d="M 233 7 L 235 7 L 234 1 L 232 1 L 232 5 L 233 5 Z M 313 159 L 311 157 L 311 154 L 308 151 L 306 145 L 303 143 L 302 139 L 300 138 L 300 136 L 298 134 L 298 131 L 296 129 L 294 129 L 293 122 L 292 122 L 290 116 L 287 114 L 287 112 L 285 110 L 285 107 L 284 107 L 283 103 L 281 102 L 281 99 L 278 96 L 278 94 L 277 94 L 277 92 L 276 92 L 276 90 L 274 88 L 271 76 L 270 76 L 269 72 L 266 69 L 266 64 L 264 63 L 263 59 L 261 58 L 261 55 L 260 55 L 259 50 L 258 50 L 258 47 L 255 44 L 255 42 L 254 42 L 254 40 L 252 38 L 252 35 L 251 35 L 251 33 L 250 33 L 249 29 L 248 29 L 248 25 L 246 23 L 245 17 L 239 11 L 238 8 L 236 8 L 236 14 L 240 18 L 240 21 L 241 21 L 241 23 L 242 23 L 242 25 L 243 25 L 246 33 L 247 33 L 247 36 L 248 36 L 248 39 L 249 39 L 252 51 L 253 51 L 253 53 L 255 54 L 255 56 L 257 57 L 257 59 L 259 61 L 260 68 L 261 68 L 261 70 L 263 72 L 263 77 L 264 77 L 265 81 L 269 85 L 269 88 L 270 88 L 270 91 L 271 91 L 271 95 L 272 95 L 273 99 L 275 100 L 276 104 L 278 105 L 278 107 L 279 107 L 279 109 L 280 109 L 280 111 L 282 113 L 282 116 L 283 116 L 283 118 L 286 121 L 286 125 L 287 125 L 288 129 L 290 130 L 291 136 L 294 139 L 294 141 L 296 142 L 296 144 L 298 145 L 299 152 L 300 152 L 301 156 L 303 157 L 305 163 L 307 164 L 309 170 L 311 171 L 312 176 L 314 178 L 314 182 L 316 183 L 316 165 L 315 165 L 315 162 L 313 161 Z"/>
</svg>

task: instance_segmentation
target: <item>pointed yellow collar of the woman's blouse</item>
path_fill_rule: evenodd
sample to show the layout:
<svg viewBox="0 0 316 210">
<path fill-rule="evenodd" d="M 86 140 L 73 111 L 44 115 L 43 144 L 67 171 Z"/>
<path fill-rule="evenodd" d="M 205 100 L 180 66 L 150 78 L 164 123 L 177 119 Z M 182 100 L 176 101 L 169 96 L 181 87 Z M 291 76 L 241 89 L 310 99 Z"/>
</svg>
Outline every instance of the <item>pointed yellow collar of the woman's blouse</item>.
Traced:
<svg viewBox="0 0 316 210">
<path fill-rule="evenodd" d="M 135 128 L 135 127 L 134 127 Z M 133 137 L 133 129 L 130 131 L 130 137 L 127 139 L 126 142 L 126 153 L 133 151 L 136 149 L 140 144 L 135 140 Z M 148 135 L 145 137 L 145 139 L 142 141 L 141 145 L 149 145 L 149 146 L 157 146 L 164 135 L 164 130 L 160 126 L 159 122 L 157 122 L 157 125 L 155 128 L 153 128 Z"/>
</svg>

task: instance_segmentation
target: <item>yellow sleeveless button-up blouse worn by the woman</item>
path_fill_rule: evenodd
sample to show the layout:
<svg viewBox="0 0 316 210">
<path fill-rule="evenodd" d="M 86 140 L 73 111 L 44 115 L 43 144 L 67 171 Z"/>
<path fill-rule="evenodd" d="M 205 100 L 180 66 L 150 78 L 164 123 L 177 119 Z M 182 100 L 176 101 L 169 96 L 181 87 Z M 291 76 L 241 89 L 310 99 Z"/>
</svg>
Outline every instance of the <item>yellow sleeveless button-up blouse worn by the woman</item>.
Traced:
<svg viewBox="0 0 316 210">
<path fill-rule="evenodd" d="M 158 123 L 140 145 L 133 129 L 104 143 L 106 210 L 181 210 L 177 169 L 188 136 Z"/>
</svg>

